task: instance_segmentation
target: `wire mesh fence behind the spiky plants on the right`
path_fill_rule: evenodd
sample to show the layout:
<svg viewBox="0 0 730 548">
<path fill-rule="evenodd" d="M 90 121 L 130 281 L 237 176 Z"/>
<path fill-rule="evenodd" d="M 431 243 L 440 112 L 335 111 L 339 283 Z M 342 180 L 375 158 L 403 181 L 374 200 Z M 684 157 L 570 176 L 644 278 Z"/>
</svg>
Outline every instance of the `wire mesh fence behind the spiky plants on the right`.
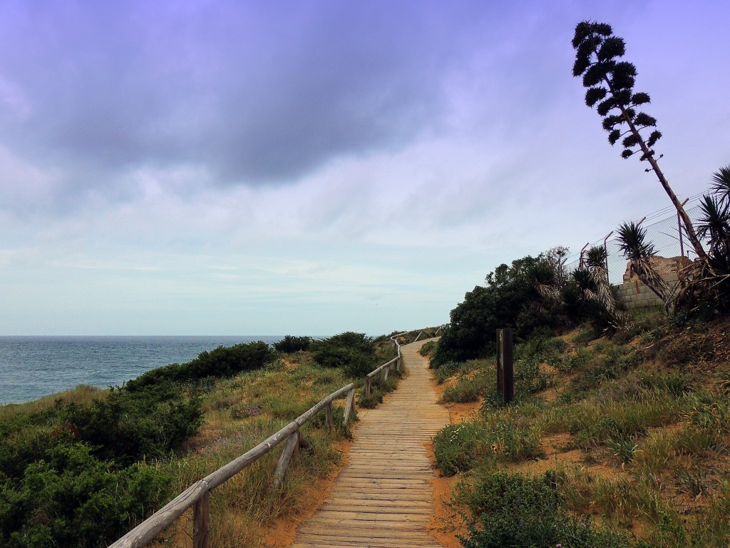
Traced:
<svg viewBox="0 0 730 548">
<path fill-rule="evenodd" d="M 693 202 L 695 205 L 693 205 Z M 693 197 L 685 205 L 685 211 L 694 225 L 696 225 L 701 214 L 701 209 L 696 202 L 699 202 L 699 197 Z M 661 218 L 656 221 L 655 219 L 658 217 Z M 648 224 L 647 221 L 652 222 Z M 653 244 L 654 251 L 658 256 L 669 258 L 683 255 L 690 260 L 696 258 L 694 249 L 689 243 L 685 229 L 674 207 L 670 206 L 669 208 L 664 208 L 664 210 L 652 213 L 648 218 L 645 218 L 641 227 L 646 230 L 646 239 Z M 591 248 L 592 246 L 604 246 L 604 240 L 601 239 L 593 243 L 588 243 L 585 249 Z M 608 254 L 609 282 L 612 284 L 623 283 L 623 274 L 626 272 L 628 259 L 621 253 L 615 232 L 605 240 L 605 246 Z M 573 270 L 577 270 L 579 266 L 580 254 L 575 260 L 566 264 L 566 270 L 572 272 Z"/>
</svg>

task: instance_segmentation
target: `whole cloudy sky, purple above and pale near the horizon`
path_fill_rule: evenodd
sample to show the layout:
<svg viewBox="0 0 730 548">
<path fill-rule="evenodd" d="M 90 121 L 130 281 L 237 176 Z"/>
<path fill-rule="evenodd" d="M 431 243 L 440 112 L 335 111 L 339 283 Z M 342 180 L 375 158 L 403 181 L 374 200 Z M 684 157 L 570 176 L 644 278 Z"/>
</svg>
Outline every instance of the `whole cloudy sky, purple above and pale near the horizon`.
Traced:
<svg viewBox="0 0 730 548">
<path fill-rule="evenodd" d="M 0 335 L 370 335 L 669 204 L 572 77 L 610 23 L 677 194 L 730 164 L 726 1 L 0 3 Z"/>
</svg>

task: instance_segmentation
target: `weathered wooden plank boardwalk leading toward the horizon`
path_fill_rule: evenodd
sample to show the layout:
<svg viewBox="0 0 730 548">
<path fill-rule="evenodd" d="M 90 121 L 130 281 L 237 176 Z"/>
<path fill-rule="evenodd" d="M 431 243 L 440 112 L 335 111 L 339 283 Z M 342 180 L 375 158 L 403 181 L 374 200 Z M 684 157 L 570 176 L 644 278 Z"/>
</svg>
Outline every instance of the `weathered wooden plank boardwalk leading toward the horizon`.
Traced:
<svg viewBox="0 0 730 548">
<path fill-rule="evenodd" d="M 449 414 L 436 403 L 423 340 L 401 347 L 409 372 L 390 397 L 361 417 L 349 463 L 328 500 L 302 523 L 293 548 L 441 548 L 426 531 L 434 512 L 426 444 Z"/>
</svg>

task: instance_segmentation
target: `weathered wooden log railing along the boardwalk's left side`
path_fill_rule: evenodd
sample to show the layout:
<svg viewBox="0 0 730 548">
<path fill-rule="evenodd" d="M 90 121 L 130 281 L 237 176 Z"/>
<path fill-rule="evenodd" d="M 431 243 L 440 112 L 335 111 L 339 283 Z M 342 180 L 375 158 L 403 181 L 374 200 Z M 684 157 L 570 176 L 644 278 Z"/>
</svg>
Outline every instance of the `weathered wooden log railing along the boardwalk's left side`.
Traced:
<svg viewBox="0 0 730 548">
<path fill-rule="evenodd" d="M 426 330 L 432 329 L 434 328 L 426 327 Z M 437 332 L 440 329 L 439 327 Z M 398 339 L 415 331 L 406 331 L 391 337 L 391 343 L 396 348 L 397 356 L 366 375 L 365 391 L 367 396 L 370 395 L 372 378 L 374 376 L 380 375 L 381 378 L 383 376 L 388 378 L 391 367 L 395 366 L 399 370 L 402 368 L 401 345 Z M 418 340 L 424 331 L 420 330 L 415 340 Z M 284 450 L 279 457 L 276 468 L 274 468 L 272 482 L 274 490 L 280 487 L 293 455 L 296 454 L 299 447 L 306 448 L 310 445 L 299 429 L 323 409 L 326 414 L 327 427 L 332 428 L 334 416 L 332 403 L 334 400 L 345 397 L 345 395 L 347 395 L 347 401 L 345 403 L 345 413 L 342 416 L 342 422 L 347 424 L 347 421 L 350 419 L 350 414 L 353 408 L 355 408 L 355 383 L 347 384 L 347 386 L 340 388 L 336 392 L 332 392 L 277 433 L 270 435 L 261 444 L 258 444 L 237 459 L 231 460 L 230 463 L 218 468 L 215 472 L 210 473 L 208 476 L 192 484 L 188 489 L 181 492 L 180 495 L 177 495 L 172 501 L 148 517 L 147 520 L 137 525 L 137 527 L 129 531 L 118 541 L 110 544 L 108 548 L 142 548 L 155 539 L 162 530 L 172 525 L 185 511 L 191 508 L 193 509 L 193 548 L 210 548 L 210 492 L 285 441 Z"/>
</svg>

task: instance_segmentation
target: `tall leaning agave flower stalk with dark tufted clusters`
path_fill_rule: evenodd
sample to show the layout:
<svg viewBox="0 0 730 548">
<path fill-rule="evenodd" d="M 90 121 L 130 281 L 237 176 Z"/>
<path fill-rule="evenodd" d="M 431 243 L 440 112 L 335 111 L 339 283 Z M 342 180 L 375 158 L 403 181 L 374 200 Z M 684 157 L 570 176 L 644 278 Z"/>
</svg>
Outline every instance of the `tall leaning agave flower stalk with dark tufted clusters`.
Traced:
<svg viewBox="0 0 730 548">
<path fill-rule="evenodd" d="M 646 171 L 653 170 L 656 174 L 682 218 L 695 253 L 704 265 L 708 265 L 709 258 L 692 221 L 656 161 L 653 146 L 661 132 L 656 129 L 656 118 L 637 109 L 648 104 L 650 97 L 641 91 L 634 92 L 636 66 L 628 61 L 619 61 L 626 53 L 623 38 L 614 36 L 611 26 L 606 23 L 582 21 L 575 27 L 572 45 L 576 52 L 573 76 L 582 76 L 583 85 L 588 88 L 585 104 L 591 108 L 597 104 L 596 111 L 603 117 L 603 128 L 609 132 L 611 145 L 623 137 L 623 158 L 641 152 L 641 161 L 649 162 L 651 167 Z M 645 139 L 642 132 L 649 129 L 651 131 Z"/>
</svg>

